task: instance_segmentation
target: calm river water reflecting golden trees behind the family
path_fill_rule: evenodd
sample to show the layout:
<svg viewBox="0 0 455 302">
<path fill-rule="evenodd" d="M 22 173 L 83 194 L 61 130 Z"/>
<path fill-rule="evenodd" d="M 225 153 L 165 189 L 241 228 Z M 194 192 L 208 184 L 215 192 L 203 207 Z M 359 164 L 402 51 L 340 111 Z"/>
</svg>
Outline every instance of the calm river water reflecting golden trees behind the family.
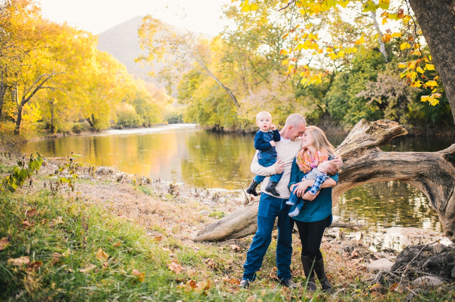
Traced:
<svg viewBox="0 0 455 302">
<path fill-rule="evenodd" d="M 216 133 L 192 124 L 149 129 L 110 130 L 90 136 L 30 141 L 22 152 L 39 150 L 44 157 L 71 152 L 80 161 L 152 179 L 176 181 L 197 188 L 245 189 L 254 175 L 250 163 L 254 134 Z M 344 136 L 328 136 L 338 146 Z M 454 143 L 449 137 L 396 138 L 383 151 L 439 151 Z M 343 221 L 359 221 L 369 228 L 418 227 L 442 231 L 436 212 L 416 188 L 399 183 L 368 184 L 341 197 L 333 210 Z"/>
</svg>

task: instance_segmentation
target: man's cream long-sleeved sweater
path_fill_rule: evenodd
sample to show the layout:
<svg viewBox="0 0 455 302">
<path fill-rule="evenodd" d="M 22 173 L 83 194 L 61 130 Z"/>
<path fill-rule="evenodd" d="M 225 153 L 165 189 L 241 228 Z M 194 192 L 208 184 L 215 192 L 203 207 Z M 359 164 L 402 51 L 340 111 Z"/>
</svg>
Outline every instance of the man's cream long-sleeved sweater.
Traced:
<svg viewBox="0 0 455 302">
<path fill-rule="evenodd" d="M 283 177 L 281 177 L 280 182 L 278 183 L 276 190 L 278 193 L 280 193 L 280 198 L 289 198 L 291 196 L 291 192 L 289 192 L 288 185 L 289 185 L 289 179 L 291 177 L 291 168 L 292 168 L 292 163 L 295 160 L 295 156 L 297 153 L 300 151 L 302 147 L 302 140 L 300 137 L 297 137 L 295 141 L 291 140 L 282 140 L 277 142 L 277 161 L 278 160 L 283 160 L 284 162 L 284 171 L 283 171 Z M 270 175 L 276 174 L 275 172 L 275 166 L 271 165 L 269 167 L 263 167 L 261 166 L 258 161 L 257 161 L 257 151 L 256 154 L 254 155 L 253 162 L 251 163 L 251 172 L 257 175 L 263 175 L 267 176 L 261 183 L 261 192 L 271 195 L 270 193 L 265 192 L 265 187 L 268 184 L 268 180 L 270 178 Z M 273 195 L 271 195 L 273 196 Z"/>
</svg>

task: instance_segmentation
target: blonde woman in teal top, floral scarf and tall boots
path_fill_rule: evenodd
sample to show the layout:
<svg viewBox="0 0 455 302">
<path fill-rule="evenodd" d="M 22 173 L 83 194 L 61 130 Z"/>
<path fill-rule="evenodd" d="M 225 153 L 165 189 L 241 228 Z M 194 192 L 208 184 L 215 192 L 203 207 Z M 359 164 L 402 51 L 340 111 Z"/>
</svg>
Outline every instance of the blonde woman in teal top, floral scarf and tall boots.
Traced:
<svg viewBox="0 0 455 302">
<path fill-rule="evenodd" d="M 306 278 L 307 289 L 316 290 L 314 272 L 326 291 L 332 290 L 332 285 L 327 279 L 324 260 L 320 251 L 324 230 L 332 223 L 332 187 L 338 183 L 338 173 L 330 176 L 321 184 L 317 194 L 308 194 L 314 185 L 314 179 L 306 179 L 306 174 L 311 172 L 320 163 L 335 158 L 333 146 L 327 140 L 324 132 L 315 127 L 308 126 L 302 136 L 302 149 L 292 164 L 289 190 L 304 200 L 299 214 L 293 217 L 299 230 L 302 243 L 302 265 Z M 305 178 L 306 180 L 302 179 Z M 293 211 L 294 207 L 290 211 Z"/>
</svg>

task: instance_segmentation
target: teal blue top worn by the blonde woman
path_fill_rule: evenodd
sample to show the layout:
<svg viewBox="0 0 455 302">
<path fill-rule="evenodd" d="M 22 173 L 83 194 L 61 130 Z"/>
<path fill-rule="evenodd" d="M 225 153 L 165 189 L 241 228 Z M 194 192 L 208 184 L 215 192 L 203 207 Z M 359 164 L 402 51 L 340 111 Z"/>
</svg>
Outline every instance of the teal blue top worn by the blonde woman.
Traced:
<svg viewBox="0 0 455 302">
<path fill-rule="evenodd" d="M 329 158 L 329 160 L 332 158 Z M 292 169 L 291 169 L 291 179 L 288 185 L 288 188 L 291 187 L 291 185 L 300 183 L 302 181 L 303 176 L 305 176 L 308 173 L 304 173 L 300 171 L 299 166 L 297 163 L 294 162 L 292 163 Z M 336 173 L 333 176 L 330 176 L 335 182 L 338 184 L 338 173 Z M 308 187 L 305 192 L 311 190 L 311 187 Z M 294 211 L 295 207 L 291 207 L 291 212 Z M 302 221 L 302 222 L 314 222 L 314 221 L 320 221 L 323 219 L 326 219 L 329 217 L 329 215 L 332 215 L 332 187 L 330 188 L 322 188 L 321 191 L 319 192 L 319 195 L 316 196 L 316 198 L 312 201 L 309 200 L 304 200 L 304 205 L 302 209 L 300 210 L 299 215 L 296 217 L 293 217 L 295 220 Z M 332 224 L 332 219 L 330 220 L 330 223 L 327 225 L 329 226 Z"/>
</svg>

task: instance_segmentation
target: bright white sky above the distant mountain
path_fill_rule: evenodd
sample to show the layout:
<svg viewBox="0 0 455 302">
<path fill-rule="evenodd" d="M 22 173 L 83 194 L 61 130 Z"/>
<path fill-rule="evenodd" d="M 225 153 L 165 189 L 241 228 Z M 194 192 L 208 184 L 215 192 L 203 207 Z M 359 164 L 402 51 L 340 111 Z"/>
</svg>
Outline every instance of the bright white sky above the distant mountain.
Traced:
<svg viewBox="0 0 455 302">
<path fill-rule="evenodd" d="M 51 21 L 77 26 L 94 34 L 135 16 L 152 15 L 171 25 L 217 35 L 229 22 L 220 19 L 221 7 L 231 0 L 38 0 L 42 15 Z M 237 4 L 238 5 L 238 4 Z M 167 7 L 167 8 L 166 8 Z M 175 12 L 183 11 L 181 18 Z M 183 14 L 180 14 L 183 15 Z"/>
</svg>

